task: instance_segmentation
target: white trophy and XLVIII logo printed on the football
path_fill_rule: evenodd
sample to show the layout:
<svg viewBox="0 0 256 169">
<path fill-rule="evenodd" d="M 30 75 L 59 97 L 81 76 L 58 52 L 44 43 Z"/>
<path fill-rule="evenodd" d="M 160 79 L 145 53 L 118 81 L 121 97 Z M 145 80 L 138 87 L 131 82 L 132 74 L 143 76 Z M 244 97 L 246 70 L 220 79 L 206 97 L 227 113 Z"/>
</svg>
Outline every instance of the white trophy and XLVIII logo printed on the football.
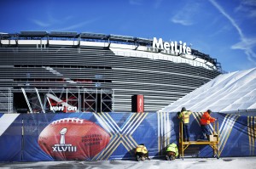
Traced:
<svg viewBox="0 0 256 169">
<path fill-rule="evenodd" d="M 67 132 L 67 128 L 61 129 L 60 144 L 55 144 L 55 146 L 52 147 L 53 151 L 55 151 L 55 152 L 76 152 L 77 151 L 76 146 L 72 146 L 72 144 L 65 143 L 65 133 L 66 132 Z"/>
</svg>

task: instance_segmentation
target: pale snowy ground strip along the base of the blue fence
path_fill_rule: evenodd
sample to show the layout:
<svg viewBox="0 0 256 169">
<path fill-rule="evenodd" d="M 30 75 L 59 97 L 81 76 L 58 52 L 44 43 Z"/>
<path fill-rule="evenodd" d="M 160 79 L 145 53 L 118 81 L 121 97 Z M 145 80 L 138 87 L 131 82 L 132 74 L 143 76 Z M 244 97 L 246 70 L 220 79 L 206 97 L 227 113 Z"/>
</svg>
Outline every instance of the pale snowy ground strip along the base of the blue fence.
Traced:
<svg viewBox="0 0 256 169">
<path fill-rule="evenodd" d="M 175 161 L 50 161 L 0 163 L 0 168 L 108 168 L 108 169 L 254 169 L 256 157 L 239 158 L 185 158 Z"/>
</svg>

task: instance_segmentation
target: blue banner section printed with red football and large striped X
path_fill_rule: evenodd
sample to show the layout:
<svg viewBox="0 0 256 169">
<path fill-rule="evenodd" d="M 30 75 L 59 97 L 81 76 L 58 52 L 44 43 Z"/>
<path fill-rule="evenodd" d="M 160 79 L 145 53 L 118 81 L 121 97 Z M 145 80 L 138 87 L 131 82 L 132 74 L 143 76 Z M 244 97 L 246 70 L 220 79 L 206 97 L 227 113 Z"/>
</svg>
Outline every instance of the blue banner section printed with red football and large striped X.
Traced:
<svg viewBox="0 0 256 169">
<path fill-rule="evenodd" d="M 145 119 L 148 116 L 148 119 Z M 157 152 L 156 114 L 24 115 L 24 161 L 131 158 L 137 144 Z M 36 127 L 37 126 L 37 127 Z"/>
</svg>

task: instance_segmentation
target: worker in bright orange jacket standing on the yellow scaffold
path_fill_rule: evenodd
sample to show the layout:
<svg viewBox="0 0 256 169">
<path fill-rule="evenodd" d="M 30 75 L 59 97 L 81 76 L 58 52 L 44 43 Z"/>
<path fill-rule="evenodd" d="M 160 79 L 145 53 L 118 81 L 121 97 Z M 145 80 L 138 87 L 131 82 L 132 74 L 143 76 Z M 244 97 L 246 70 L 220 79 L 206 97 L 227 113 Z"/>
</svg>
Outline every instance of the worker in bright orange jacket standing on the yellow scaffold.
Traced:
<svg viewBox="0 0 256 169">
<path fill-rule="evenodd" d="M 212 110 L 207 110 L 201 116 L 200 125 L 201 125 L 201 139 L 209 139 L 209 135 L 211 135 L 209 124 L 211 122 L 216 121 L 215 118 L 211 116 Z"/>
</svg>

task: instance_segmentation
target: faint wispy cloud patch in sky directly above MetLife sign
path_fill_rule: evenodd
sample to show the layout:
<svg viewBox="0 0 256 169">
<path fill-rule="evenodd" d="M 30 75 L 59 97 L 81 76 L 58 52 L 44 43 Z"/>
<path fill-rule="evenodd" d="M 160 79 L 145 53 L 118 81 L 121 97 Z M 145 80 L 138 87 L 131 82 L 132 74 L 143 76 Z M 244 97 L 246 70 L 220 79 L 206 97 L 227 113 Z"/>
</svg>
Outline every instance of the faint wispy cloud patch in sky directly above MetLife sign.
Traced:
<svg viewBox="0 0 256 169">
<path fill-rule="evenodd" d="M 181 8 L 177 14 L 175 14 L 171 21 L 175 24 L 181 25 L 193 25 L 194 16 L 199 12 L 199 3 L 187 3 L 183 8 Z"/>
</svg>

